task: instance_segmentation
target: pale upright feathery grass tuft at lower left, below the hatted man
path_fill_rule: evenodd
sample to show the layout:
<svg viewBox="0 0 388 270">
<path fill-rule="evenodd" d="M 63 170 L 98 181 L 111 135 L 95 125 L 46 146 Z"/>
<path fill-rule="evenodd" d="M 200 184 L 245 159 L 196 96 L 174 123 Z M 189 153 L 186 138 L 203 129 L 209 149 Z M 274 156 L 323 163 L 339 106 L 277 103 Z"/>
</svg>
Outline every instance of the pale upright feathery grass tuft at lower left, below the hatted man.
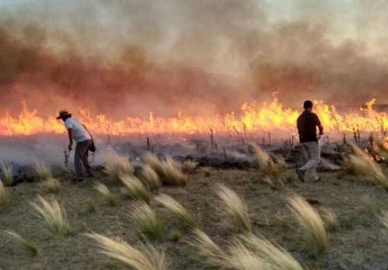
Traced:
<svg viewBox="0 0 388 270">
<path fill-rule="evenodd" d="M 60 237 L 69 232 L 66 212 L 61 208 L 56 199 L 46 201 L 42 196 L 37 196 L 37 202 L 31 202 L 39 217 L 44 220 L 44 225 L 54 236 Z"/>
</svg>

